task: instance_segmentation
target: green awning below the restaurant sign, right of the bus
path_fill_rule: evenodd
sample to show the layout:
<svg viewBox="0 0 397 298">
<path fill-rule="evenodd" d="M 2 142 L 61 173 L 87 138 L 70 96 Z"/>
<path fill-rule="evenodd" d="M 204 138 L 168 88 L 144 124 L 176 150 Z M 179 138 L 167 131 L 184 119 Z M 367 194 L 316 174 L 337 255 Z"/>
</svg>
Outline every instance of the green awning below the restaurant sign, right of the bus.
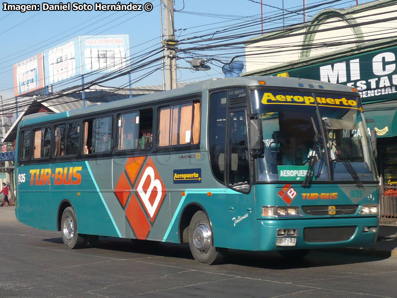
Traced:
<svg viewBox="0 0 397 298">
<path fill-rule="evenodd" d="M 374 128 L 378 138 L 391 138 L 397 136 L 397 101 L 379 102 L 364 105 L 364 115 L 367 120 L 374 120 Z"/>
</svg>

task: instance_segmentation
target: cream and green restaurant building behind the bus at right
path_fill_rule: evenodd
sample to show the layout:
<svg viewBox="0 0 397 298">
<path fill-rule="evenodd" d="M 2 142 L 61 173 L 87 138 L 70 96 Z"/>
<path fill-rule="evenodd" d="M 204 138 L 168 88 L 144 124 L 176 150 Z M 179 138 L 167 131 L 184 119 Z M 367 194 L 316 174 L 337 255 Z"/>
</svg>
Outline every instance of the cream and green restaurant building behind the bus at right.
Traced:
<svg viewBox="0 0 397 298">
<path fill-rule="evenodd" d="M 397 219 L 397 0 L 326 9 L 307 23 L 246 41 L 245 50 L 243 75 L 311 78 L 357 88 L 377 134 L 384 216 Z"/>
</svg>

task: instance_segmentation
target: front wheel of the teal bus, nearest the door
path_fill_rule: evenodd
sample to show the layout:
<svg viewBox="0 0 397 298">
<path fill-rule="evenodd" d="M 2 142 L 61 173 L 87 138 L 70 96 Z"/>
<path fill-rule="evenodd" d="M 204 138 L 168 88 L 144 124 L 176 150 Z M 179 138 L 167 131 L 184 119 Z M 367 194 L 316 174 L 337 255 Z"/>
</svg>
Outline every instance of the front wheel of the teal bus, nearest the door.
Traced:
<svg viewBox="0 0 397 298">
<path fill-rule="evenodd" d="M 213 246 L 212 230 L 204 212 L 198 211 L 189 225 L 189 246 L 193 257 L 203 264 L 216 264 L 222 261 L 220 249 Z"/>
</svg>

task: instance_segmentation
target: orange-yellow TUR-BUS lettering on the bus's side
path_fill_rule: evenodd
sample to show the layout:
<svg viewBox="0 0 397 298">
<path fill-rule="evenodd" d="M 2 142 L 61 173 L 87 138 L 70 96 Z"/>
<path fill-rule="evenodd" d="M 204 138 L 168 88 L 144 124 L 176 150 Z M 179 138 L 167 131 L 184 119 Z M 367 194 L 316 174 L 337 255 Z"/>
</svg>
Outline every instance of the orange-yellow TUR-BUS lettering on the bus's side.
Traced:
<svg viewBox="0 0 397 298">
<path fill-rule="evenodd" d="M 30 170 L 30 185 L 79 185 L 81 183 L 81 166 L 51 169 Z"/>
</svg>

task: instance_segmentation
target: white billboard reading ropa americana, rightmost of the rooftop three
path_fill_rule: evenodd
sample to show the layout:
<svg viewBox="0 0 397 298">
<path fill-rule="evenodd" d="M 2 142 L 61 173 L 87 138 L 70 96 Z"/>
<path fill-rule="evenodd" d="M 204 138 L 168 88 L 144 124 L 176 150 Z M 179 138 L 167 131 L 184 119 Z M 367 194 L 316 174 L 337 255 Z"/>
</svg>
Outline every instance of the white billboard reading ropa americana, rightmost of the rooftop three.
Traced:
<svg viewBox="0 0 397 298">
<path fill-rule="evenodd" d="M 80 36 L 82 73 L 124 68 L 130 56 L 129 35 Z"/>
</svg>

